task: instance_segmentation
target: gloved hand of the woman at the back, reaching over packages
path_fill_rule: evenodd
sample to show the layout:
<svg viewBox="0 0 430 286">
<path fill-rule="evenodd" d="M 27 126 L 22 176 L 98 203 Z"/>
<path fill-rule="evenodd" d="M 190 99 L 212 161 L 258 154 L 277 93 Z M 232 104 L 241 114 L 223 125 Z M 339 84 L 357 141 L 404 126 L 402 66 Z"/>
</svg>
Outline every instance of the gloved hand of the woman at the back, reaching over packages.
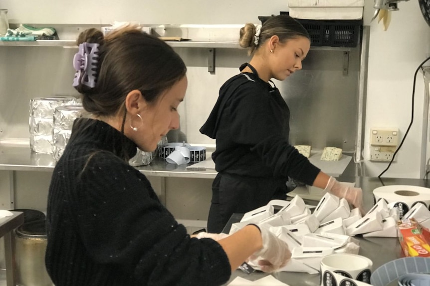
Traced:
<svg viewBox="0 0 430 286">
<path fill-rule="evenodd" d="M 345 198 L 354 207 L 358 207 L 362 214 L 365 213 L 363 208 L 363 191 L 361 188 L 342 185 L 335 178 L 330 177 L 324 191 L 332 193 L 337 197 Z"/>
</svg>

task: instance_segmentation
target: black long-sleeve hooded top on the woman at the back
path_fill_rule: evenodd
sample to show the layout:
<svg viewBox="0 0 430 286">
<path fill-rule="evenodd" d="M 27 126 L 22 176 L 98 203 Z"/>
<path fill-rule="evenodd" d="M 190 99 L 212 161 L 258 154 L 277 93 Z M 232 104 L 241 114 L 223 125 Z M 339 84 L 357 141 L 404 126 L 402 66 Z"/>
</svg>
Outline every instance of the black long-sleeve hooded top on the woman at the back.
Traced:
<svg viewBox="0 0 430 286">
<path fill-rule="evenodd" d="M 216 171 L 312 185 L 320 169 L 289 144 L 289 116 L 276 87 L 253 73 L 230 78 L 200 129 L 216 139 Z"/>
</svg>

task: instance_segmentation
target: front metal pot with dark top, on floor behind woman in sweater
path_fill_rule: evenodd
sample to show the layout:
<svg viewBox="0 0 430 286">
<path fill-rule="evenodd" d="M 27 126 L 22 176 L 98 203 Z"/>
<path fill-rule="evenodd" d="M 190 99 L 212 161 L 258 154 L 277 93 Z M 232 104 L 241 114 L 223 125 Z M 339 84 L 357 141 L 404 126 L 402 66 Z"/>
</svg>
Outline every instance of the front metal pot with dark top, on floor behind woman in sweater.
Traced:
<svg viewBox="0 0 430 286">
<path fill-rule="evenodd" d="M 16 284 L 53 286 L 45 267 L 46 221 L 25 222 L 15 230 Z"/>
</svg>

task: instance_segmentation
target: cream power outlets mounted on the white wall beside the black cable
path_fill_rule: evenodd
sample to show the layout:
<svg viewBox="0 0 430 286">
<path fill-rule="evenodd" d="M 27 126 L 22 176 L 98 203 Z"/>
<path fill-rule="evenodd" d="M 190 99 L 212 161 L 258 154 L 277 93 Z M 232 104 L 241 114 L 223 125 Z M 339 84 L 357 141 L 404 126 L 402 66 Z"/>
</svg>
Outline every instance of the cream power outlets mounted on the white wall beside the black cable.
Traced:
<svg viewBox="0 0 430 286">
<path fill-rule="evenodd" d="M 399 129 L 371 128 L 370 161 L 391 161 L 398 144 Z"/>
</svg>

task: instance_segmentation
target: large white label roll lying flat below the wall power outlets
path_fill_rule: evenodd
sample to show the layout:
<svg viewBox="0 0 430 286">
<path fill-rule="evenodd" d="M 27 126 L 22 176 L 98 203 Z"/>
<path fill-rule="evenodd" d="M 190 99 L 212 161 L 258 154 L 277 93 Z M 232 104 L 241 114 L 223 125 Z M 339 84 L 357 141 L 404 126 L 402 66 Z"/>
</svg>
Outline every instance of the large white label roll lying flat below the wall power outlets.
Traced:
<svg viewBox="0 0 430 286">
<path fill-rule="evenodd" d="M 402 218 L 415 204 L 423 203 L 430 210 L 430 189 L 417 186 L 393 185 L 373 190 L 374 204 L 385 199 L 389 208 L 396 207 Z"/>
</svg>

